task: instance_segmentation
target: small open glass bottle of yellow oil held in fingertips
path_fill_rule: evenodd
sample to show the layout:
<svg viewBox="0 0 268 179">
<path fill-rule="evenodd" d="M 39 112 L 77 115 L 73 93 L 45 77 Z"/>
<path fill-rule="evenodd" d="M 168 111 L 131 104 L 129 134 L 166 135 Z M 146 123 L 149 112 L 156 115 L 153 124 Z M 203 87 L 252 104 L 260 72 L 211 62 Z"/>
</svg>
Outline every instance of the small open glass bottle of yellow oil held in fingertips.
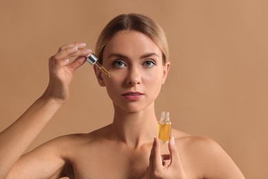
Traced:
<svg viewBox="0 0 268 179">
<path fill-rule="evenodd" d="M 158 121 L 157 137 L 161 143 L 168 143 L 171 134 L 171 122 L 169 112 L 162 112 Z"/>
</svg>

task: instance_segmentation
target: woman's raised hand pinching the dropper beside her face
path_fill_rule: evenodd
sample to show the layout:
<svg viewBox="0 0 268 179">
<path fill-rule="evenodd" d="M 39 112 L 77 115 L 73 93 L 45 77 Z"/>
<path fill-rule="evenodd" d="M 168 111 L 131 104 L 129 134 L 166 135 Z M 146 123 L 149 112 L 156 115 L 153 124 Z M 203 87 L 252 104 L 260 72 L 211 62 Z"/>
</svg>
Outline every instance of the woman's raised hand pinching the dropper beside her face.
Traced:
<svg viewBox="0 0 268 179">
<path fill-rule="evenodd" d="M 58 52 L 49 58 L 49 85 L 43 96 L 60 103 L 69 98 L 69 84 L 74 71 L 83 65 L 91 50 L 85 48 L 85 43 L 68 43 L 59 48 Z M 76 57 L 69 63 L 69 58 Z"/>
</svg>

